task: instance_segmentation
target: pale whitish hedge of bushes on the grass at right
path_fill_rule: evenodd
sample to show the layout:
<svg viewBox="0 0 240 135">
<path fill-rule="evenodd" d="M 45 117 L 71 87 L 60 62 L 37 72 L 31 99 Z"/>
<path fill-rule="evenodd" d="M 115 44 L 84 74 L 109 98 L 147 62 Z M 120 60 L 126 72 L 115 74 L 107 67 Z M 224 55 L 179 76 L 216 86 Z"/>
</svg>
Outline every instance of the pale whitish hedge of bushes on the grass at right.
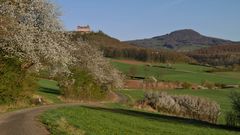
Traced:
<svg viewBox="0 0 240 135">
<path fill-rule="evenodd" d="M 170 96 L 166 93 L 147 93 L 141 101 L 158 112 L 216 123 L 220 106 L 214 102 L 193 96 Z"/>
</svg>

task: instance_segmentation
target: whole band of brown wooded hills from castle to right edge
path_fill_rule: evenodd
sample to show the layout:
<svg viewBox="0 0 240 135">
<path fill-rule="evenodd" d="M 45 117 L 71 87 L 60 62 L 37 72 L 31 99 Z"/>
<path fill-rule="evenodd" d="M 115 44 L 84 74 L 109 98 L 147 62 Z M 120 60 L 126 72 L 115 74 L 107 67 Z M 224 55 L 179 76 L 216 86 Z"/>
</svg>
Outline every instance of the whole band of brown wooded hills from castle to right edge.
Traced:
<svg viewBox="0 0 240 135">
<path fill-rule="evenodd" d="M 207 48 L 181 53 L 166 49 L 152 49 L 123 43 L 103 32 L 81 34 L 69 32 L 73 41 L 84 41 L 97 46 L 105 57 L 155 62 L 198 62 L 209 65 L 240 64 L 240 45 L 212 45 Z"/>
</svg>

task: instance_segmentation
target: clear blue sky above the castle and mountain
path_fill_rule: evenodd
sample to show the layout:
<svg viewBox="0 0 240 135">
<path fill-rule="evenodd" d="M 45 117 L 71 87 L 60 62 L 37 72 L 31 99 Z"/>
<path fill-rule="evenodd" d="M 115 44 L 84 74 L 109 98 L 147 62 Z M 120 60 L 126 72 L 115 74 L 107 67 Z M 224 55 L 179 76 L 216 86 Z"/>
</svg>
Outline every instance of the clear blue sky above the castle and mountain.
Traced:
<svg viewBox="0 0 240 135">
<path fill-rule="evenodd" d="M 240 0 L 54 0 L 66 30 L 90 25 L 122 41 L 193 29 L 240 41 Z"/>
</svg>

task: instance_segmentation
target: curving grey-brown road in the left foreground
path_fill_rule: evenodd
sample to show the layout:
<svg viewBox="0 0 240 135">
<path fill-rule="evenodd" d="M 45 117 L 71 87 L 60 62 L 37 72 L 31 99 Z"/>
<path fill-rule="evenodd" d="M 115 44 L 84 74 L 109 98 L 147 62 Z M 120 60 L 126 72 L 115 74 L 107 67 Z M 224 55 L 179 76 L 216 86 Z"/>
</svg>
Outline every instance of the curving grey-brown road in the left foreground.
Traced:
<svg viewBox="0 0 240 135">
<path fill-rule="evenodd" d="M 49 135 L 43 124 L 37 120 L 37 116 L 49 109 L 75 105 L 82 104 L 41 106 L 1 115 L 0 135 Z"/>
</svg>

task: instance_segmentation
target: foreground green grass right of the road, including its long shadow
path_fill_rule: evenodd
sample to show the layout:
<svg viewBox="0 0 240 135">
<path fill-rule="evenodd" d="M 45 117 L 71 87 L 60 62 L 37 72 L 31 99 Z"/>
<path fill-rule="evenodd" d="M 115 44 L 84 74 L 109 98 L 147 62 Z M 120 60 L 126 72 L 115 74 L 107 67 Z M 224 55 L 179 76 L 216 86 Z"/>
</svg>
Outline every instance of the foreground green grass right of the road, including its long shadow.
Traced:
<svg viewBox="0 0 240 135">
<path fill-rule="evenodd" d="M 41 118 L 43 123 L 50 127 L 53 135 L 70 135 L 70 132 L 76 130 L 86 135 L 239 134 L 239 132 L 225 130 L 223 126 L 127 109 L 65 107 L 48 111 Z M 62 128 L 63 126 L 59 123 L 61 119 L 68 123 L 66 128 Z M 75 130 L 69 131 L 70 129 Z"/>
</svg>

